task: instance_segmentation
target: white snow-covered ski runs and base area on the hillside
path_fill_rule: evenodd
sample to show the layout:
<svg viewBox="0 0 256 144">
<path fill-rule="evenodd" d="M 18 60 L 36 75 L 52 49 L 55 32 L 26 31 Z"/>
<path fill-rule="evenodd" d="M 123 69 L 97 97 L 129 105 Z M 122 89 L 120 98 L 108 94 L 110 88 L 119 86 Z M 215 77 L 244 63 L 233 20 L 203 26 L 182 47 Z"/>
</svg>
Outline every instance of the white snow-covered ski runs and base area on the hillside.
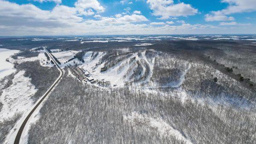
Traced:
<svg viewBox="0 0 256 144">
<path fill-rule="evenodd" d="M 140 67 L 138 66 L 137 62 L 139 62 L 139 64 L 142 66 L 142 70 L 141 74 L 139 76 L 136 76 L 135 79 L 143 77 L 143 80 L 134 82 L 133 85 L 146 89 L 154 89 L 158 87 L 178 88 L 181 86 L 181 84 L 183 84 L 186 72 L 190 68 L 189 65 L 186 66 L 186 69 L 182 73 L 180 73 L 180 78 L 178 81 L 170 82 L 169 84 L 160 86 L 151 81 L 154 69 L 155 56 L 147 58 L 145 56 L 145 51 L 131 53 L 130 56 L 122 59 L 104 72 L 101 72 L 101 69 L 105 66 L 106 62 L 102 62 L 101 60 L 102 57 L 106 55 L 106 52 L 98 52 L 98 55 L 95 58 L 92 57 L 93 52 L 86 52 L 84 54 L 84 63 L 76 58 L 67 63 L 64 63 L 67 60 L 73 58 L 77 52 L 78 51 L 62 51 L 53 52 L 52 54 L 61 62 L 62 68 L 64 68 L 65 66 L 77 65 L 79 68 L 84 69 L 84 72 L 89 72 L 90 78 L 93 78 L 96 81 L 110 82 L 111 87 L 122 87 L 125 85 L 126 82 L 133 81 L 133 73 L 135 69 Z M 131 60 L 132 58 L 134 58 L 134 60 Z M 97 84 L 94 85 L 98 86 Z"/>
</svg>

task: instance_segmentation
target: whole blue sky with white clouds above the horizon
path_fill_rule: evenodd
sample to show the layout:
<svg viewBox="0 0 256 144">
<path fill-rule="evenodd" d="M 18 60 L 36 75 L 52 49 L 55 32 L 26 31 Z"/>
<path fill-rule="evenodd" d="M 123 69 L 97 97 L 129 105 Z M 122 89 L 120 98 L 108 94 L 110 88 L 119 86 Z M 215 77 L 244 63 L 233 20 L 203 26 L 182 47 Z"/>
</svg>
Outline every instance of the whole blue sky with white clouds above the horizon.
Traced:
<svg viewBox="0 0 256 144">
<path fill-rule="evenodd" d="M 0 0 L 0 35 L 256 34 L 256 0 Z"/>
</svg>

